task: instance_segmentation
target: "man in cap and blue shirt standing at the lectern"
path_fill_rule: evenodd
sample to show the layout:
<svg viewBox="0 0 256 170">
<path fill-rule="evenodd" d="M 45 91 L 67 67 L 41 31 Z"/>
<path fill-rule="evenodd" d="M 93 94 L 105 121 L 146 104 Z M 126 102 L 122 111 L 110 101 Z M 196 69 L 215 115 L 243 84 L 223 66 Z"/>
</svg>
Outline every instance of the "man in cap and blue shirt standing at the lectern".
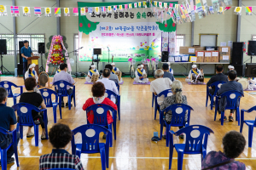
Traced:
<svg viewBox="0 0 256 170">
<path fill-rule="evenodd" d="M 22 48 L 20 48 L 20 53 L 22 56 L 22 60 L 23 60 L 23 79 L 25 80 L 25 73 L 27 70 L 27 59 L 29 59 L 30 57 L 33 57 L 34 54 L 32 53 L 32 49 L 28 46 L 28 41 L 25 40 L 24 42 L 24 46 Z"/>
</svg>

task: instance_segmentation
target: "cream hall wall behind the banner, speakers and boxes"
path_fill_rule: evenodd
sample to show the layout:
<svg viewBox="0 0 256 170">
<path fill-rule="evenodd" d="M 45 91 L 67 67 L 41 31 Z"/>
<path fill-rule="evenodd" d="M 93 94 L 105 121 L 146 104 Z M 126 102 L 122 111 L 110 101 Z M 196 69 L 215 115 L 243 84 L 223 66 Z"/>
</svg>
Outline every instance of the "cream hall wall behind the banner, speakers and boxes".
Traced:
<svg viewBox="0 0 256 170">
<path fill-rule="evenodd" d="M 91 2 L 84 1 L 83 2 Z M 119 2 L 119 0 L 106 0 L 105 2 Z M 129 2 L 137 2 L 137 0 L 131 0 Z M 182 3 L 183 1 L 179 1 Z M 208 4 L 212 4 L 211 0 L 207 0 Z M 10 0 L 1 0 L 1 4 L 11 6 L 12 1 Z M 236 6 L 238 0 L 233 0 L 233 5 Z M 243 0 L 242 4 L 245 6 L 256 6 L 256 1 L 246 1 Z M 32 7 L 55 7 L 55 0 L 16 0 L 16 5 L 18 6 L 32 6 Z M 65 7 L 76 7 L 77 0 L 61 0 L 61 8 Z M 44 8 L 42 8 L 44 10 Z M 21 8 L 20 8 L 21 10 Z M 10 31 L 13 31 L 13 18 L 10 16 L 10 9 L 8 7 L 9 16 L 1 17 L 0 23 L 7 27 Z M 61 10 L 63 14 L 63 10 Z M 16 18 L 16 31 L 17 33 L 45 33 L 45 42 L 49 42 L 49 36 L 56 34 L 56 19 L 54 14 L 52 17 L 37 18 L 32 17 L 23 17 L 22 12 L 20 12 L 20 17 Z M 252 34 L 255 34 L 255 16 L 246 16 L 245 9 L 242 9 L 241 15 L 241 41 L 247 42 L 252 39 Z M 199 44 L 199 34 L 200 33 L 217 33 L 218 34 L 218 45 L 220 42 L 234 41 L 236 42 L 236 23 L 237 15 L 234 14 L 234 8 L 226 11 L 224 15 L 209 15 L 204 19 L 199 20 L 196 16 L 195 20 L 195 32 L 194 32 L 194 44 Z M 29 26 L 28 26 L 29 25 Z M 191 45 L 191 23 L 184 23 L 182 25 L 177 25 L 177 34 L 185 34 L 185 46 Z M 0 25 L 0 33 L 11 33 L 8 29 Z M 26 27 L 26 28 L 25 28 Z M 25 28 L 25 29 L 24 29 Z M 24 29 L 24 30 L 23 30 Z M 73 51 L 73 35 L 78 33 L 78 18 L 70 16 L 64 17 L 61 16 L 61 35 L 67 37 L 68 51 Z M 70 57 L 75 59 L 73 54 L 70 54 Z M 247 60 L 248 57 L 244 55 L 244 60 Z M 9 71 L 15 70 L 15 58 L 14 56 L 4 56 L 3 64 L 6 66 Z M 256 60 L 253 59 L 254 62 Z M 44 65 L 46 59 L 44 58 Z M 40 62 L 39 62 L 40 63 Z M 88 71 L 90 63 L 79 62 L 78 71 Z M 128 63 L 118 63 L 116 64 L 122 71 L 128 72 Z M 184 65 L 190 67 L 190 65 Z M 204 66 L 203 68 L 205 68 Z M 208 66 L 207 66 L 208 67 Z M 208 67 L 211 71 L 214 65 Z M 75 65 L 72 66 L 73 71 L 75 71 Z M 100 69 L 102 64 L 100 64 Z M 172 65 L 174 71 L 179 73 L 187 74 L 187 70 L 180 65 Z M 50 71 L 52 68 L 49 69 Z"/>
</svg>

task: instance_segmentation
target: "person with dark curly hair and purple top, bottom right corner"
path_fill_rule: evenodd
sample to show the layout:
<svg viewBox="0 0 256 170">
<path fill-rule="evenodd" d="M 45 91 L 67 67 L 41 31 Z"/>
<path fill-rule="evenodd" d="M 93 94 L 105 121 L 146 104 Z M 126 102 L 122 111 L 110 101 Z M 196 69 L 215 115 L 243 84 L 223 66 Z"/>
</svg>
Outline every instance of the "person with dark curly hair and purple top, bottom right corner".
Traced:
<svg viewBox="0 0 256 170">
<path fill-rule="evenodd" d="M 235 158 L 241 155 L 246 144 L 246 140 L 242 134 L 236 131 L 230 131 L 225 134 L 222 144 L 224 152 L 210 151 L 202 161 L 201 169 L 245 170 L 246 166 L 244 163 L 235 161 Z"/>
</svg>

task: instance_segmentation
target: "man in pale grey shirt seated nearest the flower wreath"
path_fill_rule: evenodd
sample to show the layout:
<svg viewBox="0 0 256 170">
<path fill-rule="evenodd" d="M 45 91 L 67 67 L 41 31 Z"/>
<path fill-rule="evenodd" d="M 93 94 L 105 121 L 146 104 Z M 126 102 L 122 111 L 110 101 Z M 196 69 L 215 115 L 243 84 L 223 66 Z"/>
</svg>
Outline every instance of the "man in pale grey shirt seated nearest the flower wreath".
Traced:
<svg viewBox="0 0 256 170">
<path fill-rule="evenodd" d="M 73 77 L 67 73 L 67 64 L 61 64 L 60 65 L 60 69 L 61 69 L 61 72 L 59 72 L 58 74 L 55 74 L 55 77 L 53 78 L 52 80 L 52 83 L 54 84 L 55 82 L 58 82 L 58 81 L 66 81 L 66 82 L 69 82 L 71 84 L 75 84 L 74 80 L 73 80 Z M 56 93 L 58 93 L 58 88 L 56 87 Z M 67 86 L 67 94 L 73 94 L 73 88 L 70 88 L 69 86 Z M 71 96 L 71 101 L 73 99 L 73 95 Z M 68 106 L 68 102 L 66 103 L 66 106 Z M 71 106 L 73 106 L 71 104 Z M 63 97 L 61 99 L 61 107 L 64 107 L 64 100 L 63 100 Z"/>
</svg>

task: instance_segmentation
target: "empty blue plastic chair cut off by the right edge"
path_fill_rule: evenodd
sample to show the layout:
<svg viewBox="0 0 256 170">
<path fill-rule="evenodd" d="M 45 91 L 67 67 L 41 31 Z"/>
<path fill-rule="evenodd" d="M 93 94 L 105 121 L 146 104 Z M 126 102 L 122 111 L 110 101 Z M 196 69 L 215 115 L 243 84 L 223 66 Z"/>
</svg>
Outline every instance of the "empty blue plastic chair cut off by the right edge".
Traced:
<svg viewBox="0 0 256 170">
<path fill-rule="evenodd" d="M 250 113 L 252 111 L 256 111 L 256 106 L 253 106 L 249 110 L 241 110 L 241 125 L 240 125 L 240 133 L 242 133 L 243 123 L 246 123 L 248 126 L 248 145 L 251 148 L 253 143 L 253 127 L 256 127 L 256 117 L 255 120 L 244 120 L 244 112 Z"/>
</svg>

